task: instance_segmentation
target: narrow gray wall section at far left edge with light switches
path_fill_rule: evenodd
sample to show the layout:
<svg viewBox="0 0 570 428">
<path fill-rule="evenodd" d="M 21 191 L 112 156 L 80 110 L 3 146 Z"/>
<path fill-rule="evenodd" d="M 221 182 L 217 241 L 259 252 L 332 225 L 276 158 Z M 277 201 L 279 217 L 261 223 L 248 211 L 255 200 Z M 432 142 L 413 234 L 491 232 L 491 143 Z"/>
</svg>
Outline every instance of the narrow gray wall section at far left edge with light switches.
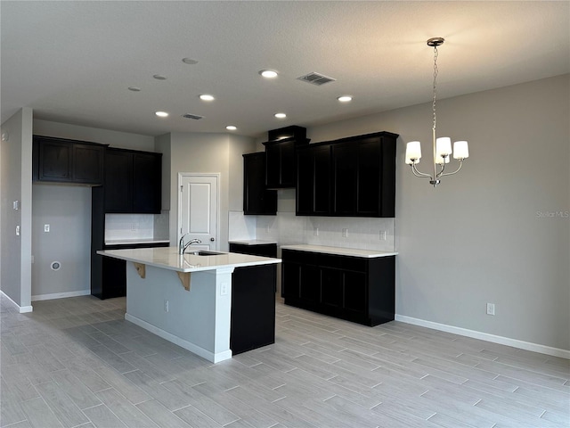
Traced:
<svg viewBox="0 0 570 428">
<path fill-rule="evenodd" d="M 31 310 L 31 193 L 32 193 L 32 111 L 23 108 L 2 124 L 7 136 L 0 144 L 0 289 L 20 306 Z M 20 210 L 12 202 L 20 202 Z M 20 226 L 20 236 L 16 236 Z"/>
</svg>

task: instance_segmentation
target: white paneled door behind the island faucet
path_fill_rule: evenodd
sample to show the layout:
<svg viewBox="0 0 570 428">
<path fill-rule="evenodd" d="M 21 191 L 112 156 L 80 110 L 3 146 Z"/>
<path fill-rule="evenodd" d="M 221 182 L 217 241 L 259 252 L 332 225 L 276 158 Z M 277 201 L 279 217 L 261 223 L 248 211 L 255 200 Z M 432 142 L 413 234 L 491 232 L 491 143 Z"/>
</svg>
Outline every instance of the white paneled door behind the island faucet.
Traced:
<svg viewBox="0 0 570 428">
<path fill-rule="evenodd" d="M 193 243 L 196 250 L 216 250 L 218 248 L 218 181 L 219 174 L 178 174 L 178 240 Z"/>
</svg>

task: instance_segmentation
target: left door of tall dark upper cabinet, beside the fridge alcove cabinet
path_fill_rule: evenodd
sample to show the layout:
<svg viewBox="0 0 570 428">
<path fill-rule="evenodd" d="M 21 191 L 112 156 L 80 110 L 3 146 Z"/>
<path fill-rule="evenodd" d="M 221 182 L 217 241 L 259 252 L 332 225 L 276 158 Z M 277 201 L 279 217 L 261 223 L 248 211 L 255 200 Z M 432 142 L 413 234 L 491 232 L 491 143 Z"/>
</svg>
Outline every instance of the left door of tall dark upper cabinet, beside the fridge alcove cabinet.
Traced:
<svg viewBox="0 0 570 428">
<path fill-rule="evenodd" d="M 105 212 L 133 210 L 133 153 L 108 149 L 105 153 Z"/>
</svg>

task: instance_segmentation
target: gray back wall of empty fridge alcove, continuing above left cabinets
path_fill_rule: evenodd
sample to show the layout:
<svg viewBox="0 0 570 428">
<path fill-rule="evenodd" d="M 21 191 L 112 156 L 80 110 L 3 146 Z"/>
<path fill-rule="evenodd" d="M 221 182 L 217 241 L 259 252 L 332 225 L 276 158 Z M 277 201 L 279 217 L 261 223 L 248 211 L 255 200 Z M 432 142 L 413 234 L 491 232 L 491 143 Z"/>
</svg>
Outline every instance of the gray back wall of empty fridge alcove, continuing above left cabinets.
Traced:
<svg viewBox="0 0 570 428">
<path fill-rule="evenodd" d="M 47 120 L 34 120 L 34 134 L 56 136 L 111 147 L 155 152 L 154 137 L 80 127 Z M 30 161 L 31 167 L 31 161 Z M 30 169 L 31 170 L 31 169 Z M 31 172 L 29 173 L 31 177 Z M 33 185 L 34 255 L 31 289 L 35 299 L 51 294 L 73 295 L 90 291 L 91 275 L 91 187 L 75 185 Z M 44 232 L 44 225 L 51 230 Z M 53 271 L 52 261 L 61 269 Z"/>
</svg>

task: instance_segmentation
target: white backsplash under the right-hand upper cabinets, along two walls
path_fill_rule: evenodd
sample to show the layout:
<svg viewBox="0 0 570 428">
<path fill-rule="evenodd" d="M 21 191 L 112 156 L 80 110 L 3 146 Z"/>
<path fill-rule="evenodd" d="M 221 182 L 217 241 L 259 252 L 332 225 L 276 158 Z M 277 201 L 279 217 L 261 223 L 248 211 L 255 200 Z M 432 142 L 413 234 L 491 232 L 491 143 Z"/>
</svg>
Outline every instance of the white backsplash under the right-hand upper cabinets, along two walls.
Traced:
<svg viewBox="0 0 570 428">
<path fill-rule="evenodd" d="M 386 240 L 380 239 L 382 232 L 386 233 Z M 244 216 L 241 211 L 232 211 L 229 233 L 230 240 L 259 239 L 281 245 L 309 243 L 363 250 L 396 249 L 395 218 L 297 217 L 290 211 L 278 211 L 276 216 Z"/>
</svg>

